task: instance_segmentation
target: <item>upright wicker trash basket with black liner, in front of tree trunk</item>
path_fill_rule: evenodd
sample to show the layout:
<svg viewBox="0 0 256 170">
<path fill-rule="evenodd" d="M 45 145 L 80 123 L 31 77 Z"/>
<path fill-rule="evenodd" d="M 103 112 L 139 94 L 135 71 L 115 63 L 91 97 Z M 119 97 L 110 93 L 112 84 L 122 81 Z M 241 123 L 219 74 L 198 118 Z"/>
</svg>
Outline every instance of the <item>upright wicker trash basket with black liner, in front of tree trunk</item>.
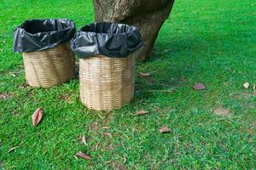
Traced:
<svg viewBox="0 0 256 170">
<path fill-rule="evenodd" d="M 139 32 L 132 26 L 96 23 L 81 28 L 72 48 L 80 58 L 82 103 L 96 111 L 119 109 L 131 103 L 135 82 L 132 53 L 142 45 Z"/>
</svg>

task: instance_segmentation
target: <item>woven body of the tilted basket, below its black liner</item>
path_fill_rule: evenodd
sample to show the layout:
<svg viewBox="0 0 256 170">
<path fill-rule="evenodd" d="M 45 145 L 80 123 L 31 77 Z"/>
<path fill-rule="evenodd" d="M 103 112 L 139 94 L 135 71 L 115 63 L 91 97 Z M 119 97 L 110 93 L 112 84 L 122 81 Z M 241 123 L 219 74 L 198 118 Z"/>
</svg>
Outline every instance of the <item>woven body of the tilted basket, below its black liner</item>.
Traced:
<svg viewBox="0 0 256 170">
<path fill-rule="evenodd" d="M 68 42 L 39 52 L 23 53 L 26 82 L 49 88 L 75 76 L 75 57 Z"/>
</svg>

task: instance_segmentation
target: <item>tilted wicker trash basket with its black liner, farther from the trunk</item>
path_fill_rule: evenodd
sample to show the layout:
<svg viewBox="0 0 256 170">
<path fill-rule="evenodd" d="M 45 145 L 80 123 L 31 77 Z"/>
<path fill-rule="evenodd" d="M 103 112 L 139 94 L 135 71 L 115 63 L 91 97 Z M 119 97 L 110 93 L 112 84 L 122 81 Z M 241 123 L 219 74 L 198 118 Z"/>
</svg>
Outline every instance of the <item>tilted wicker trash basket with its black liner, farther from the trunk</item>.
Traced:
<svg viewBox="0 0 256 170">
<path fill-rule="evenodd" d="M 50 88 L 75 77 L 74 34 L 70 20 L 26 20 L 15 30 L 15 52 L 23 54 L 30 86 Z"/>
</svg>

